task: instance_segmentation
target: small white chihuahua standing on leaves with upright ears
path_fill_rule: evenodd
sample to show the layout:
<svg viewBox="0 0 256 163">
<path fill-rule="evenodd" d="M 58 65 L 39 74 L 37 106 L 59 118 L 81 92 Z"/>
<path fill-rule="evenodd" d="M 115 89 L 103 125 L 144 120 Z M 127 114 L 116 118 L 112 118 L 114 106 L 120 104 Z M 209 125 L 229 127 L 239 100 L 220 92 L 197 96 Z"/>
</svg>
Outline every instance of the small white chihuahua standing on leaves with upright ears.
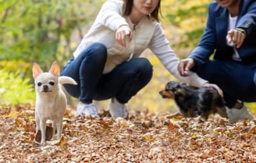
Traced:
<svg viewBox="0 0 256 163">
<path fill-rule="evenodd" d="M 53 134 L 57 127 L 57 138 L 61 138 L 61 130 L 67 100 L 61 84 L 77 84 L 70 77 L 59 77 L 60 68 L 57 62 L 51 65 L 49 73 L 43 73 L 37 63 L 33 64 L 33 78 L 35 79 L 35 123 L 36 132 L 41 130 L 41 143 L 45 142 L 46 121 L 51 120 Z"/>
</svg>

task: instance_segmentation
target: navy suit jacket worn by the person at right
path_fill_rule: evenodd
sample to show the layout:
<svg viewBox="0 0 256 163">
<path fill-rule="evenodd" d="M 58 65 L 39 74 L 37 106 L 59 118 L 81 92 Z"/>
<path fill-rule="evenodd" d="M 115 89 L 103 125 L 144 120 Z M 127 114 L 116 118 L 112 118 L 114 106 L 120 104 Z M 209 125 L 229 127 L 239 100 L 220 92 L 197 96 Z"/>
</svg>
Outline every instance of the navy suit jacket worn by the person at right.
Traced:
<svg viewBox="0 0 256 163">
<path fill-rule="evenodd" d="M 192 51 L 189 58 L 193 58 L 197 68 L 209 61 L 211 54 L 215 52 L 214 59 L 231 60 L 233 48 L 227 46 L 227 31 L 229 23 L 229 11 L 222 8 L 216 2 L 212 2 L 208 8 L 208 19 L 203 37 L 199 45 Z M 247 37 L 238 50 L 244 64 L 256 64 L 256 1 L 241 0 L 239 15 L 235 27 L 243 28 Z"/>
</svg>

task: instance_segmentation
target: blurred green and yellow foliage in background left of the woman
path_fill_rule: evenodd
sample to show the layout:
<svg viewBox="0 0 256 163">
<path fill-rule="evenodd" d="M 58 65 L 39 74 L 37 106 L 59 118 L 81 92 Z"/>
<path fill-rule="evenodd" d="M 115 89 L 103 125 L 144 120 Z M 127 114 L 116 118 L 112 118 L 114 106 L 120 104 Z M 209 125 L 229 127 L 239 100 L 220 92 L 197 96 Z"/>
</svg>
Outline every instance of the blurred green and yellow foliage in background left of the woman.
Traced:
<svg viewBox="0 0 256 163">
<path fill-rule="evenodd" d="M 0 0 L 0 102 L 34 102 L 31 65 L 63 66 L 103 0 Z M 74 31 L 76 35 L 74 36 Z M 17 73 L 18 72 L 18 73 Z"/>
</svg>

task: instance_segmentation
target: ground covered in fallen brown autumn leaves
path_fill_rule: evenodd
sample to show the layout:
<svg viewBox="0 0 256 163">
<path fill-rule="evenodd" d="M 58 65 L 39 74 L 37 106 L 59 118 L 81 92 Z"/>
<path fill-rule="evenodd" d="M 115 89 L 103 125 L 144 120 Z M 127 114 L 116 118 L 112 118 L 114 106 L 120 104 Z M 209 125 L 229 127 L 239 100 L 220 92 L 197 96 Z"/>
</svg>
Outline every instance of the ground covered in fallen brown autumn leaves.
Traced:
<svg viewBox="0 0 256 163">
<path fill-rule="evenodd" d="M 255 121 L 230 124 L 130 111 L 129 118 L 75 117 L 61 140 L 35 141 L 34 108 L 0 108 L 0 162 L 256 162 Z"/>
</svg>

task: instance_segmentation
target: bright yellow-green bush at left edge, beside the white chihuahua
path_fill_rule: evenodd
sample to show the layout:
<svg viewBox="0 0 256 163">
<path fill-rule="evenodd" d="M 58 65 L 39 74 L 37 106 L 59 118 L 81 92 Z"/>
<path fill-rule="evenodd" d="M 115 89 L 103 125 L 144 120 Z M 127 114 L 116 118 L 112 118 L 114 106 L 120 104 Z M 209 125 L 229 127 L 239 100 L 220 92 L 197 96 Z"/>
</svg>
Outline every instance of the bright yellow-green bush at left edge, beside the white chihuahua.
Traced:
<svg viewBox="0 0 256 163">
<path fill-rule="evenodd" d="M 33 84 L 29 78 L 21 78 L 20 71 L 10 73 L 6 69 L 0 70 L 0 103 L 25 104 L 35 101 Z"/>
</svg>

